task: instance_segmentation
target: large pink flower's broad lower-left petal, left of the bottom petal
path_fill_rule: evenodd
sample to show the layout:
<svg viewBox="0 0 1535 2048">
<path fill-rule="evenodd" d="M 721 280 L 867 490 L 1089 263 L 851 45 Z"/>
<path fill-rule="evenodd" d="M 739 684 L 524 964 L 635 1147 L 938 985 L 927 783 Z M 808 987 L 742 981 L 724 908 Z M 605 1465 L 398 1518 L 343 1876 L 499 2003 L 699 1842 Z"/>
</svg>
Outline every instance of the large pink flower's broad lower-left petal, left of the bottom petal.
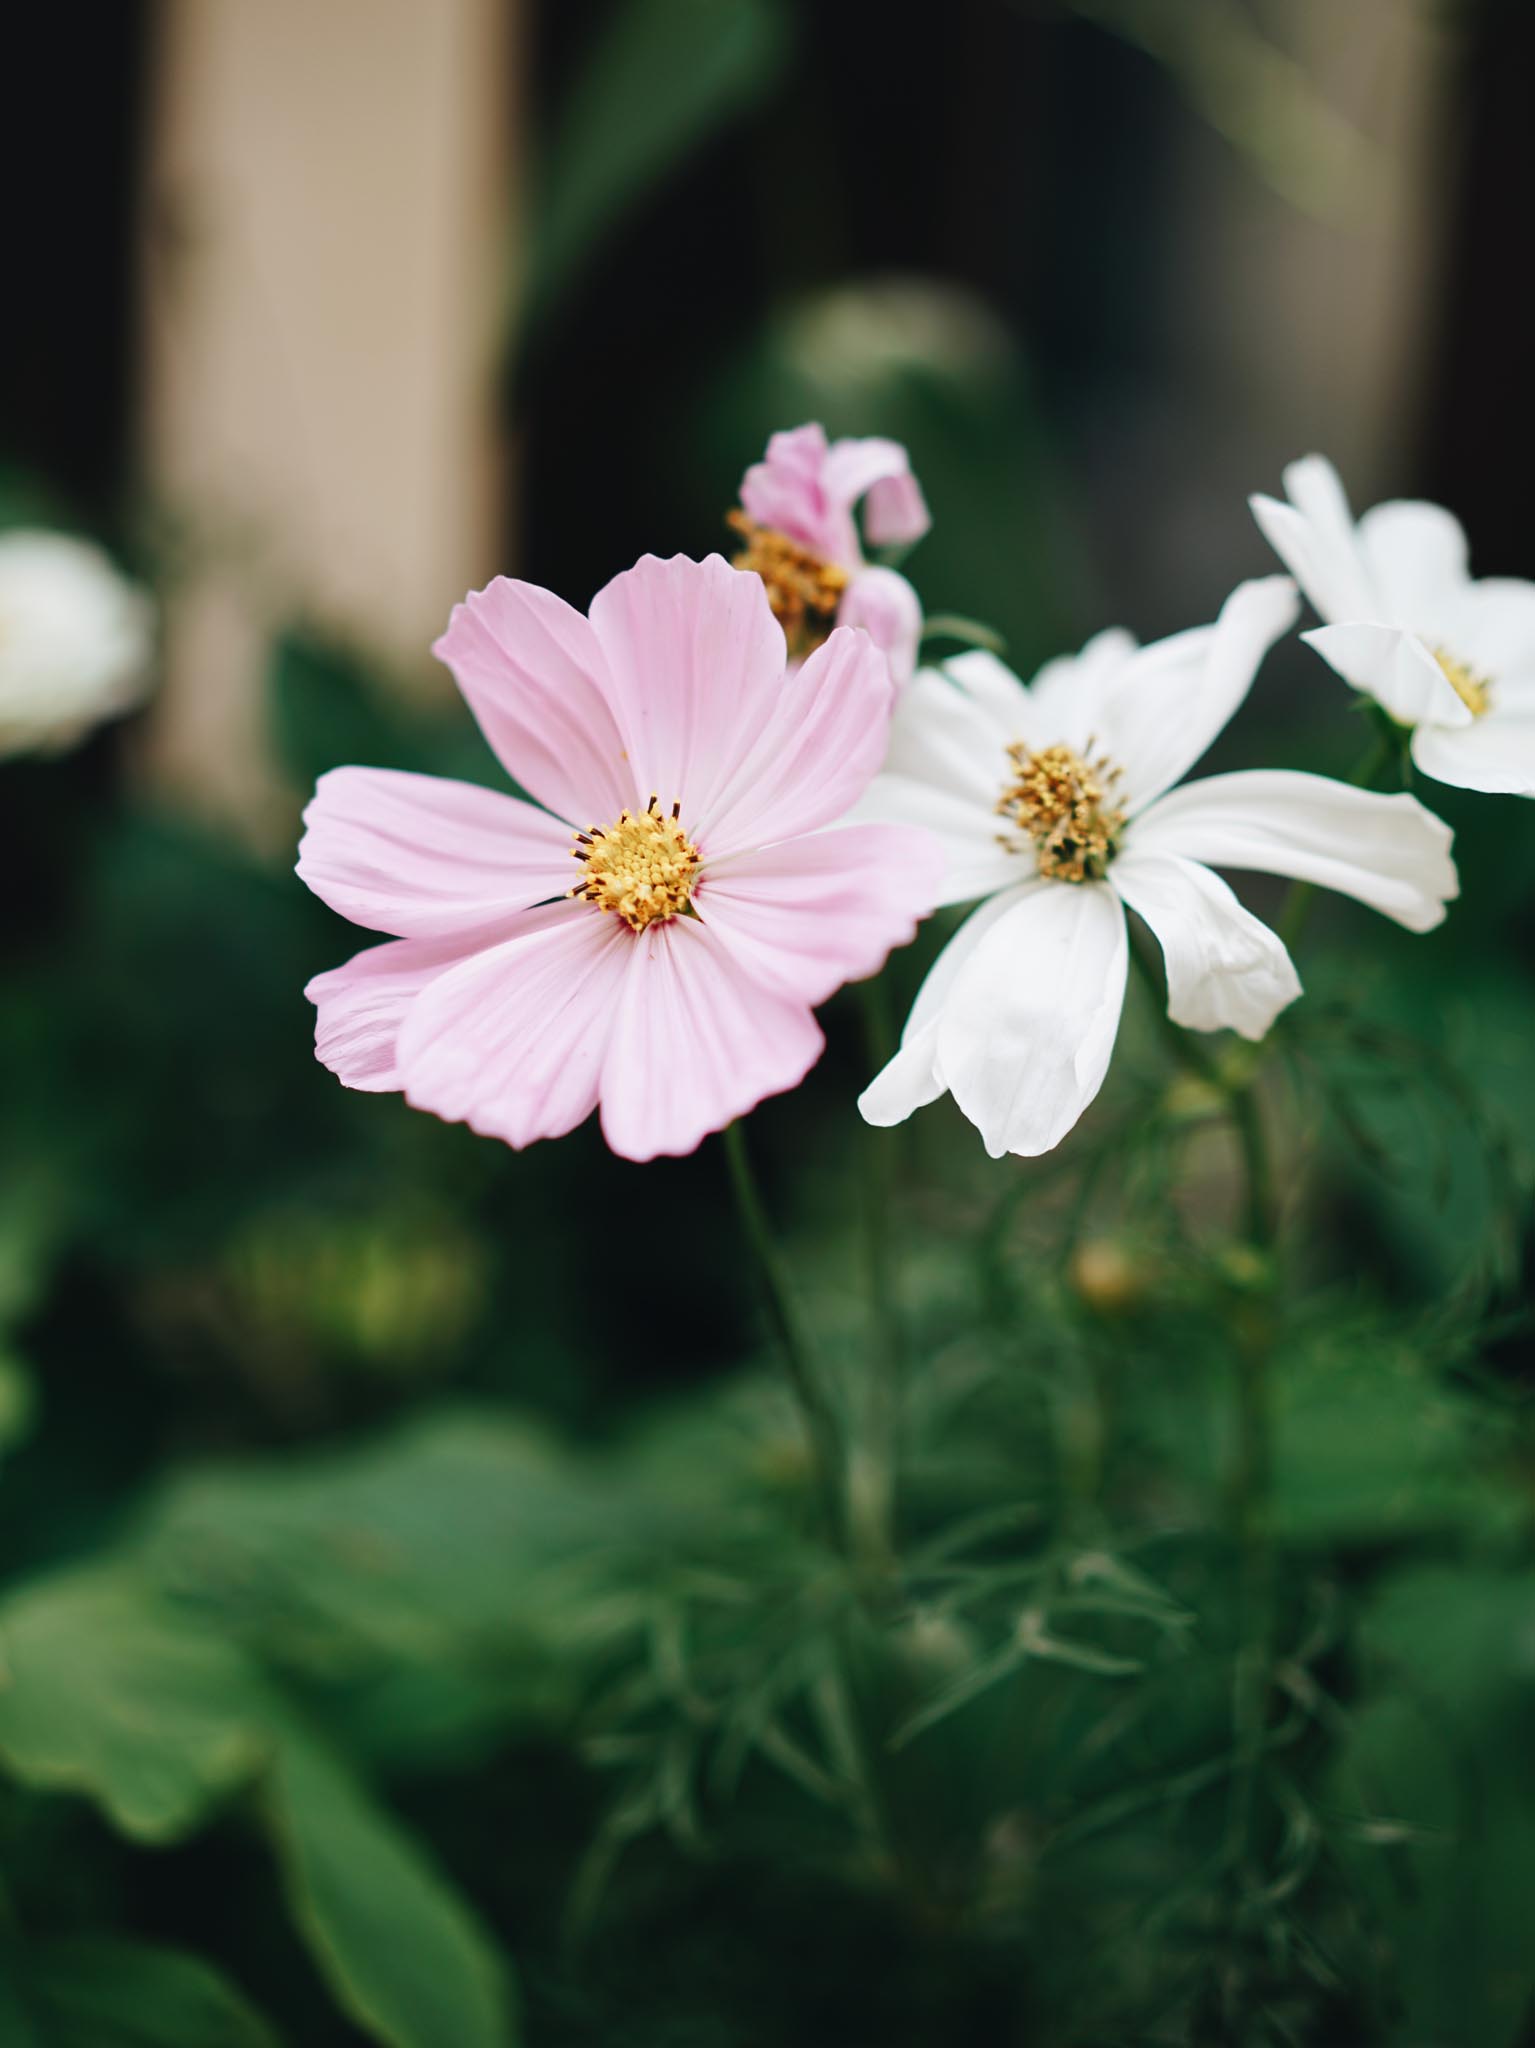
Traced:
<svg viewBox="0 0 1535 2048">
<path fill-rule="evenodd" d="M 524 1147 L 591 1114 L 634 934 L 585 903 L 536 911 L 430 981 L 399 1032 L 405 1100 Z"/>
</svg>

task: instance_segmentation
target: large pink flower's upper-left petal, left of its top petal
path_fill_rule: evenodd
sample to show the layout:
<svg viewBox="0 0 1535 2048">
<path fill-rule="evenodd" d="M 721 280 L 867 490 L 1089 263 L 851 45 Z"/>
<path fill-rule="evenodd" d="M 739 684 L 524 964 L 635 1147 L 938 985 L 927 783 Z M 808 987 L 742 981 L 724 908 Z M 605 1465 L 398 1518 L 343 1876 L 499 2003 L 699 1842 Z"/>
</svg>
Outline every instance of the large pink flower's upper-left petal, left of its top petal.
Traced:
<svg viewBox="0 0 1535 2048">
<path fill-rule="evenodd" d="M 634 803 L 596 633 L 553 592 L 497 575 L 454 604 L 432 653 L 452 670 L 506 772 L 538 803 L 571 825 L 606 825 Z"/>
</svg>

